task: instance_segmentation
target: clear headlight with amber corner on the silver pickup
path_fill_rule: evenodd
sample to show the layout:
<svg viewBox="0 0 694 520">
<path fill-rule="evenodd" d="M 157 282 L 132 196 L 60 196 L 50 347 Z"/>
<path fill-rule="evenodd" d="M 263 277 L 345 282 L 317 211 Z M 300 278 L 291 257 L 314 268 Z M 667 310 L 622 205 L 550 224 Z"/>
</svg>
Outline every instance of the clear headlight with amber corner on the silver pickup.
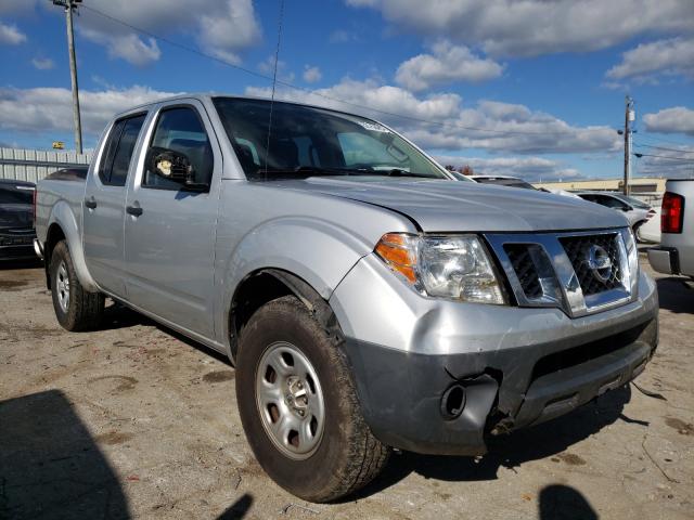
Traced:
<svg viewBox="0 0 694 520">
<path fill-rule="evenodd" d="M 504 304 L 489 256 L 475 235 L 385 234 L 376 253 L 426 296 Z"/>
</svg>

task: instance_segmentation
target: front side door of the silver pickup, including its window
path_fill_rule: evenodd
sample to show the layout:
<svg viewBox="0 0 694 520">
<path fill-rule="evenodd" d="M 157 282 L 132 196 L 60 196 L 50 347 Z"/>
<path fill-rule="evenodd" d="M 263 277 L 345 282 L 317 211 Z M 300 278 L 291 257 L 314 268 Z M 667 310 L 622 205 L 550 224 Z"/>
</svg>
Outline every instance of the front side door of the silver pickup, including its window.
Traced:
<svg viewBox="0 0 694 520">
<path fill-rule="evenodd" d="M 185 154 L 207 191 L 150 171 L 156 146 Z M 140 156 L 125 217 L 128 300 L 166 321 L 211 338 L 216 217 L 221 152 L 204 106 L 163 105 Z"/>
</svg>

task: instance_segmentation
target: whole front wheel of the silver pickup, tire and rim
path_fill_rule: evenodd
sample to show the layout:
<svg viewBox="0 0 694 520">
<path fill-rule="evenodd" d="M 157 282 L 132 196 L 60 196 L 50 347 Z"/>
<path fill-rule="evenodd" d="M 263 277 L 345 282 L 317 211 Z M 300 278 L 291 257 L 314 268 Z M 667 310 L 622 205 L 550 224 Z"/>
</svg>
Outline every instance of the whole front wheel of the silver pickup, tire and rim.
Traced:
<svg viewBox="0 0 694 520">
<path fill-rule="evenodd" d="M 236 396 L 260 466 L 300 498 L 348 495 L 388 459 L 363 419 L 344 352 L 294 297 L 267 303 L 243 329 Z"/>
</svg>

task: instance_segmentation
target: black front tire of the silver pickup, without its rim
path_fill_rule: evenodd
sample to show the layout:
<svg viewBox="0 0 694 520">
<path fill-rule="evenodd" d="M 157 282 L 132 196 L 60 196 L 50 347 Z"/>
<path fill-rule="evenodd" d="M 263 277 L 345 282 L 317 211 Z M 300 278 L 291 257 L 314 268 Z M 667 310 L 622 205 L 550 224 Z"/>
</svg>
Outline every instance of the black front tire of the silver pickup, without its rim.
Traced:
<svg viewBox="0 0 694 520">
<path fill-rule="evenodd" d="M 335 500 L 368 484 L 390 454 L 363 419 L 350 368 L 336 337 L 298 299 L 283 297 L 250 317 L 241 333 L 236 359 L 239 412 L 258 463 L 290 493 L 316 503 Z M 322 388 L 322 438 L 316 451 L 301 460 L 275 446 L 256 404 L 256 370 L 266 350 L 277 342 L 296 347 L 314 367 Z"/>
</svg>

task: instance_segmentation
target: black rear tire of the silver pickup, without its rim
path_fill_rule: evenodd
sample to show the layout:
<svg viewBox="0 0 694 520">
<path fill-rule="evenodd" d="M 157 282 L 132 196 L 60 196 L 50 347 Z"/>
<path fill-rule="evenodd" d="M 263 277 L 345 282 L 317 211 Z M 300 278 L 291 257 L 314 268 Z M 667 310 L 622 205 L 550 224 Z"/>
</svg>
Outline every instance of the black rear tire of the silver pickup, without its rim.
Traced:
<svg viewBox="0 0 694 520">
<path fill-rule="evenodd" d="M 67 243 L 59 242 L 53 248 L 50 263 L 51 273 L 51 296 L 53 298 L 53 309 L 55 317 L 63 328 L 70 332 L 92 330 L 99 327 L 104 312 L 104 295 L 101 292 L 89 292 L 82 288 L 77 275 L 73 257 L 69 253 Z M 65 304 L 61 302 L 65 290 L 61 287 L 61 282 L 67 280 L 68 300 Z"/>
</svg>

